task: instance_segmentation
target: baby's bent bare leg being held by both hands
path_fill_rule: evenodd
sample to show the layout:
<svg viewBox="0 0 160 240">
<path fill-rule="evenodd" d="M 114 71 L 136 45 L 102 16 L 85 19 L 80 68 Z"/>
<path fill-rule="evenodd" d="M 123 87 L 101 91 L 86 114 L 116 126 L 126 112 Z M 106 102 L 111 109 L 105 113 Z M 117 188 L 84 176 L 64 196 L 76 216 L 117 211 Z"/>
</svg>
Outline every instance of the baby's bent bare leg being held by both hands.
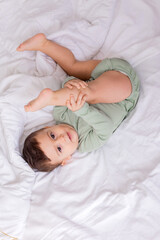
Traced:
<svg viewBox="0 0 160 240">
<path fill-rule="evenodd" d="M 25 111 L 37 111 L 48 105 L 66 106 L 66 101 L 70 95 L 77 99 L 78 94 L 82 92 L 86 95 L 86 102 L 89 104 L 96 103 L 116 103 L 129 97 L 132 92 L 130 79 L 124 74 L 116 71 L 103 73 L 96 80 L 88 83 L 88 87 L 77 89 L 73 87 L 61 88 L 57 91 L 44 89 L 37 98 L 25 106 Z"/>
</svg>

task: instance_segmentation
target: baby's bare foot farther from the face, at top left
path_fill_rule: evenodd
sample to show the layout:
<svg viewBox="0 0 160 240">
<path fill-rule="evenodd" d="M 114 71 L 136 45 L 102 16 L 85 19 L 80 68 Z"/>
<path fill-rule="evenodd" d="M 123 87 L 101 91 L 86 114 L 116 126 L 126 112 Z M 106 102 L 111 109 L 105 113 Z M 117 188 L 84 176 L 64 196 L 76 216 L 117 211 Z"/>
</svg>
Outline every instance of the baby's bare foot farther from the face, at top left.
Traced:
<svg viewBox="0 0 160 240">
<path fill-rule="evenodd" d="M 41 50 L 46 42 L 47 42 L 46 36 L 43 33 L 38 33 L 35 36 L 21 43 L 16 50 L 19 52 Z"/>
</svg>

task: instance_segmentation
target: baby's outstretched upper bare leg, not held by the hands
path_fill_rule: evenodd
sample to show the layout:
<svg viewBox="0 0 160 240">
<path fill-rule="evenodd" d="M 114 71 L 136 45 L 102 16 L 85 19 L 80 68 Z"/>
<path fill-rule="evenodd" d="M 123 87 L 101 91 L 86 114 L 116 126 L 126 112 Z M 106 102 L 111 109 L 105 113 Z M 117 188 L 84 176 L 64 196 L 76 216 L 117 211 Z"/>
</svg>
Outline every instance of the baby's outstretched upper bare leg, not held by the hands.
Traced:
<svg viewBox="0 0 160 240">
<path fill-rule="evenodd" d="M 87 80 L 100 60 L 78 61 L 73 53 L 39 33 L 20 44 L 17 51 L 41 51 L 56 61 L 68 75 Z"/>
</svg>

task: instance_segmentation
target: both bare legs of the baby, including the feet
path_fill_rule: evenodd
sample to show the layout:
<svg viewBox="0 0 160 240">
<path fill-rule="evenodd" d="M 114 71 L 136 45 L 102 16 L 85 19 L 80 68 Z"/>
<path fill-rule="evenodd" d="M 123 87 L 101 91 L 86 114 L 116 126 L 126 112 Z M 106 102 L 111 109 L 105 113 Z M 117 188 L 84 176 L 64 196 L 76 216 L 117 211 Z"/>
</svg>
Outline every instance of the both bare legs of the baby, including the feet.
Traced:
<svg viewBox="0 0 160 240">
<path fill-rule="evenodd" d="M 69 49 L 46 39 L 42 33 L 28 39 L 17 48 L 17 51 L 37 50 L 53 58 L 69 75 L 83 80 L 90 77 L 92 70 L 100 62 L 99 60 L 77 61 Z M 83 91 L 87 96 L 86 101 L 90 104 L 115 103 L 127 98 L 131 94 L 132 86 L 129 78 L 124 74 L 108 71 L 89 82 L 86 89 L 63 88 L 55 92 L 44 89 L 36 99 L 25 106 L 25 110 L 36 111 L 47 105 L 66 105 L 70 94 L 73 94 L 76 99 L 79 91 Z"/>
</svg>

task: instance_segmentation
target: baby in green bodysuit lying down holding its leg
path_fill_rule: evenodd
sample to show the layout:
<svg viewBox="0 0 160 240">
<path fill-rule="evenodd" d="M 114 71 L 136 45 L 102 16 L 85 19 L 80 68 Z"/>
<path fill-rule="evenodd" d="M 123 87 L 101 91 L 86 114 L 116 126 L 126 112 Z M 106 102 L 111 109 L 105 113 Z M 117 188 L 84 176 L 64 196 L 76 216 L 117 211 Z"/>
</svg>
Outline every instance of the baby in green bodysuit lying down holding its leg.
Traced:
<svg viewBox="0 0 160 240">
<path fill-rule="evenodd" d="M 56 125 L 25 140 L 23 157 L 34 169 L 52 171 L 66 164 L 76 149 L 90 152 L 103 146 L 136 106 L 139 80 L 125 60 L 78 61 L 69 49 L 42 33 L 20 44 L 17 51 L 41 51 L 74 76 L 57 91 L 44 89 L 25 106 L 26 112 L 55 106 Z"/>
</svg>

